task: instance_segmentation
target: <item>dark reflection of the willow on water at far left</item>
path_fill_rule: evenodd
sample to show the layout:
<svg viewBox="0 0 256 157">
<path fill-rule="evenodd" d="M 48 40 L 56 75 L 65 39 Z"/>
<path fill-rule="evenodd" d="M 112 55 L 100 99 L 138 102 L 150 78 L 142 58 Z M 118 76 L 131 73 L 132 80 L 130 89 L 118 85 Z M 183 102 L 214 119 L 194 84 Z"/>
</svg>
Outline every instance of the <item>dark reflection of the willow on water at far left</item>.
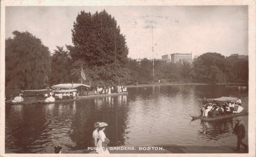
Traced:
<svg viewBox="0 0 256 157">
<path fill-rule="evenodd" d="M 40 141 L 43 130 L 47 128 L 45 107 L 42 105 L 22 106 L 18 112 L 5 114 L 5 149 L 15 153 L 36 153 L 44 141 Z M 8 107 L 6 108 L 8 110 Z M 15 109 L 16 110 L 16 109 Z M 31 112 L 32 111 L 32 112 Z"/>
</svg>

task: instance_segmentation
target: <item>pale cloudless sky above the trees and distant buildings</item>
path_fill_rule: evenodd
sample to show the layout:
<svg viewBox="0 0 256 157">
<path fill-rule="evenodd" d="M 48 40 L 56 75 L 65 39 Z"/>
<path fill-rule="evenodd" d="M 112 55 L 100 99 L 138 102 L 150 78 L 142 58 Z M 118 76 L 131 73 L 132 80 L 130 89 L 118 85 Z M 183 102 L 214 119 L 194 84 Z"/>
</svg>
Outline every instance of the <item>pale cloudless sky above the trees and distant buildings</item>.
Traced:
<svg viewBox="0 0 256 157">
<path fill-rule="evenodd" d="M 73 45 L 71 29 L 77 14 L 105 9 L 125 35 L 132 59 L 165 54 L 206 52 L 248 55 L 248 6 L 7 6 L 5 38 L 28 31 L 53 53 Z M 152 53 L 152 25 L 153 45 Z"/>
</svg>

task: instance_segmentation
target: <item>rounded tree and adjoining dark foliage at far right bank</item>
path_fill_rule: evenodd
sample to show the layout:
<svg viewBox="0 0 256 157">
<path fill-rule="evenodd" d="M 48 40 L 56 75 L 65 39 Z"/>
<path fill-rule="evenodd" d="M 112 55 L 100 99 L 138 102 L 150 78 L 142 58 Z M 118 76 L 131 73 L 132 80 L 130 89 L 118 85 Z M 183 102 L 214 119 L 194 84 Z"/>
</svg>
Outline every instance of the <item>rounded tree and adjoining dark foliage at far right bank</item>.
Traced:
<svg viewBox="0 0 256 157">
<path fill-rule="evenodd" d="M 194 78 L 203 82 L 248 80 L 248 61 L 246 60 L 228 61 L 220 53 L 208 52 L 200 55 L 193 64 Z"/>
</svg>

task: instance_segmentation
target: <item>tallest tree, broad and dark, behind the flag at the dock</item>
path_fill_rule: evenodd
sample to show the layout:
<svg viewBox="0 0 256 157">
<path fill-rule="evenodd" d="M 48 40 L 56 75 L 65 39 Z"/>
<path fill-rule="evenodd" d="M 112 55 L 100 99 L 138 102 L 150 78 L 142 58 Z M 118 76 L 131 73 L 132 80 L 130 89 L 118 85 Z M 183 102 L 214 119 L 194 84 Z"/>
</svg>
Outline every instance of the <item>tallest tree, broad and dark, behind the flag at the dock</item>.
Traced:
<svg viewBox="0 0 256 157">
<path fill-rule="evenodd" d="M 115 18 L 105 10 L 94 14 L 81 11 L 73 26 L 72 43 L 74 46 L 67 45 L 77 69 L 73 70 L 72 75 L 79 76 L 78 69 L 81 68 L 79 66 L 83 66 L 83 69 L 90 74 L 92 84 L 127 83 L 125 80 L 129 79 L 120 79 L 120 77 L 122 75 L 129 77 L 127 76 L 128 47 L 125 35 L 120 33 L 120 26 L 117 26 Z M 122 69 L 122 74 L 120 69 Z M 79 77 L 77 79 L 79 80 Z"/>
</svg>

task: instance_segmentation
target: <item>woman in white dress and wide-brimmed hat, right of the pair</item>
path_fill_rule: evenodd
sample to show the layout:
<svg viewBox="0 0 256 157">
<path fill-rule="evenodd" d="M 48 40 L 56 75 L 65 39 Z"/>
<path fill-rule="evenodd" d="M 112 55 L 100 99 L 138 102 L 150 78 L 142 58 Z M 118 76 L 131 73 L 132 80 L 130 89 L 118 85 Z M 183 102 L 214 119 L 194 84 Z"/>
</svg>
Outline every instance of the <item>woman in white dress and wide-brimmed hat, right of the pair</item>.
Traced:
<svg viewBox="0 0 256 157">
<path fill-rule="evenodd" d="M 106 126 L 108 126 L 108 124 L 104 122 L 100 122 L 99 124 L 100 128 L 98 131 L 99 131 L 100 140 L 98 141 L 97 150 L 96 150 L 96 152 L 99 154 L 109 154 L 108 148 L 102 147 L 102 143 L 105 142 L 105 138 L 106 138 L 106 135 L 104 133 Z"/>
</svg>

